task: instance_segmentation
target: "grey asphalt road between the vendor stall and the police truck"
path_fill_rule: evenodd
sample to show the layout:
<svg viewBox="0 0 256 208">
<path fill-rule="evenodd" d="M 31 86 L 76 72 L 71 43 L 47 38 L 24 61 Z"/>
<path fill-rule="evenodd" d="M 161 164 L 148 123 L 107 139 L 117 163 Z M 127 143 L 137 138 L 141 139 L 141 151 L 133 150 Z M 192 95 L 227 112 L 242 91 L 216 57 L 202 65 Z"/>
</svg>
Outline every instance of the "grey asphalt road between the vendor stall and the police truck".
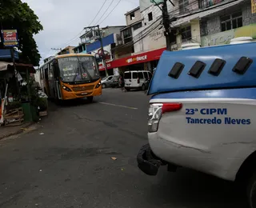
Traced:
<svg viewBox="0 0 256 208">
<path fill-rule="evenodd" d="M 38 129 L 0 141 L 0 207 L 245 207 L 233 183 L 194 170 L 138 170 L 148 101 L 106 89 L 91 104 L 50 104 Z"/>
</svg>

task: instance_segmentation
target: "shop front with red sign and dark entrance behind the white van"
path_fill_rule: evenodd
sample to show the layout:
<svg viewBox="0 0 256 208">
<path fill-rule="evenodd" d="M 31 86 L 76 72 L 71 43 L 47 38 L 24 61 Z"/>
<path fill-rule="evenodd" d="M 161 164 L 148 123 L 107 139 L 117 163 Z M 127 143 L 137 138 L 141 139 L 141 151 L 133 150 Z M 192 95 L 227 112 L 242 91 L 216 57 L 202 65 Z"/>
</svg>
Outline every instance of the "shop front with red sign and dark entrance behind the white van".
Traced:
<svg viewBox="0 0 256 208">
<path fill-rule="evenodd" d="M 116 69 L 119 71 L 127 70 L 150 70 L 157 66 L 158 60 L 160 59 L 162 52 L 166 48 L 158 50 L 151 50 L 142 54 L 135 54 L 126 58 L 119 58 L 112 62 L 106 62 L 106 69 L 114 73 Z M 105 70 L 105 67 L 99 65 L 99 70 Z"/>
</svg>

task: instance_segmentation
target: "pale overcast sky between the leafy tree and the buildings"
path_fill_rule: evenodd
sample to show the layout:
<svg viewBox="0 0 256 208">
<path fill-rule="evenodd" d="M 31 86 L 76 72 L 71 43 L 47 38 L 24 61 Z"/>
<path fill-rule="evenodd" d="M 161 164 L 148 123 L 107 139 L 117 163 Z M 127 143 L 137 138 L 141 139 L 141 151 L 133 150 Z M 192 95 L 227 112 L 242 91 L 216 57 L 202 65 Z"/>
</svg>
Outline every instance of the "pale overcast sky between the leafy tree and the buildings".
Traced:
<svg viewBox="0 0 256 208">
<path fill-rule="evenodd" d="M 112 5 L 110 3 L 113 1 Z M 89 26 L 105 0 L 22 0 L 27 2 L 44 27 L 35 35 L 38 50 L 42 58 L 55 54 L 51 48 L 64 48 L 67 45 L 78 46 L 82 29 Z M 119 0 L 106 0 L 105 6 L 92 25 L 102 22 Z M 121 0 L 116 9 L 100 26 L 126 25 L 124 14 L 137 7 L 138 0 Z M 106 8 L 106 14 L 101 18 Z"/>
</svg>

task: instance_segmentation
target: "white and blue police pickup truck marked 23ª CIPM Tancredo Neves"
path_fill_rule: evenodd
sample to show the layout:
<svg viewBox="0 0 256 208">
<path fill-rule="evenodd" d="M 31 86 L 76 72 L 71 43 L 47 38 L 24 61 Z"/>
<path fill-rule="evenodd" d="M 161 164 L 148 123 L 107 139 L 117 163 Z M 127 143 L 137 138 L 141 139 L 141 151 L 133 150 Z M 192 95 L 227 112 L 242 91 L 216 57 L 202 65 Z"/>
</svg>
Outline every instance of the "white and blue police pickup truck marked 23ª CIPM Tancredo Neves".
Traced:
<svg viewBox="0 0 256 208">
<path fill-rule="evenodd" d="M 256 42 L 165 51 L 150 83 L 138 167 L 187 167 L 246 184 L 256 207 Z"/>
</svg>

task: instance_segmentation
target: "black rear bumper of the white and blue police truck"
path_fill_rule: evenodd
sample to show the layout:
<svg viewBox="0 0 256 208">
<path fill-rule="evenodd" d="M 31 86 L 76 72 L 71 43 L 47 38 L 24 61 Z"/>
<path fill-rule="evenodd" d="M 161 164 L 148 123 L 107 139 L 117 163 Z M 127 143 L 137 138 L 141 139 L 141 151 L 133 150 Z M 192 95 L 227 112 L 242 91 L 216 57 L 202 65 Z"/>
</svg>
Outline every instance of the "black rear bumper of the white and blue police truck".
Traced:
<svg viewBox="0 0 256 208">
<path fill-rule="evenodd" d="M 159 167 L 164 165 L 161 159 L 154 155 L 149 144 L 139 150 L 137 162 L 138 168 L 148 175 L 157 175 Z"/>
</svg>

